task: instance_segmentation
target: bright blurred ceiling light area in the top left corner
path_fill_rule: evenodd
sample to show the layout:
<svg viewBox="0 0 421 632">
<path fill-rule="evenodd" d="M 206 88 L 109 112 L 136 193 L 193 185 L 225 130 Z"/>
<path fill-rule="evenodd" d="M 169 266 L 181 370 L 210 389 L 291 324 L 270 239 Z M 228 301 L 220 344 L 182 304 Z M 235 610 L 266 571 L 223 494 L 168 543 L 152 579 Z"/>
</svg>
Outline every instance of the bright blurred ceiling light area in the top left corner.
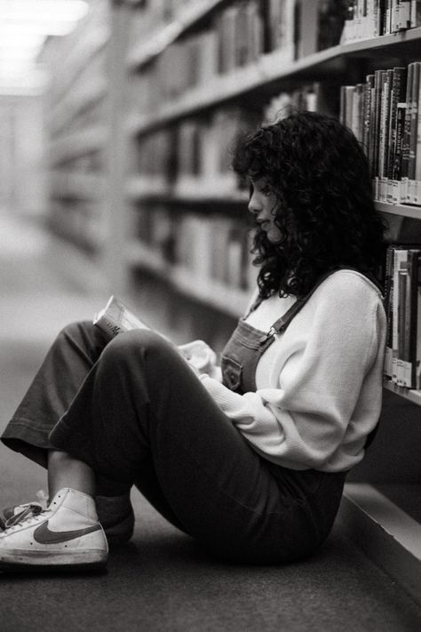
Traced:
<svg viewBox="0 0 421 632">
<path fill-rule="evenodd" d="M 84 0 L 0 0 L 0 89 L 44 76 L 35 70 L 46 39 L 68 35 L 88 11 Z"/>
</svg>

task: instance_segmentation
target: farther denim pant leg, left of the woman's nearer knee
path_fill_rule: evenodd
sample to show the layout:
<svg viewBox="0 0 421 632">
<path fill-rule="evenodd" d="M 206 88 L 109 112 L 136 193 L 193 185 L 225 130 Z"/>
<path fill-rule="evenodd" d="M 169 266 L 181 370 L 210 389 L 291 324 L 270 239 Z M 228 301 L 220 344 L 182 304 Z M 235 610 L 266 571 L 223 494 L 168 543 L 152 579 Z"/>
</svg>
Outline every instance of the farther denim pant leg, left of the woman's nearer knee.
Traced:
<svg viewBox="0 0 421 632">
<path fill-rule="evenodd" d="M 50 432 L 68 410 L 107 341 L 88 321 L 66 326 L 5 428 L 3 443 L 46 468 L 47 451 L 52 449 Z"/>
</svg>

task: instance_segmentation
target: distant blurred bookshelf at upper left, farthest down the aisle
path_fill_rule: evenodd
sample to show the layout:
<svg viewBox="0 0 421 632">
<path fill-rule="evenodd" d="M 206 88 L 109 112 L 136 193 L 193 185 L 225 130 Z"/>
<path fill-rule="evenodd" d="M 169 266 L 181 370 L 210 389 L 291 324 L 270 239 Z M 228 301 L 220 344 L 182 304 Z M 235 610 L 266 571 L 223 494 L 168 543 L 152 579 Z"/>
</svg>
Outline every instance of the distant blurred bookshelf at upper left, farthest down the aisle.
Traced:
<svg viewBox="0 0 421 632">
<path fill-rule="evenodd" d="M 96 260 L 106 237 L 109 7 L 93 0 L 70 35 L 52 38 L 47 60 L 49 225 L 81 258 Z"/>
</svg>

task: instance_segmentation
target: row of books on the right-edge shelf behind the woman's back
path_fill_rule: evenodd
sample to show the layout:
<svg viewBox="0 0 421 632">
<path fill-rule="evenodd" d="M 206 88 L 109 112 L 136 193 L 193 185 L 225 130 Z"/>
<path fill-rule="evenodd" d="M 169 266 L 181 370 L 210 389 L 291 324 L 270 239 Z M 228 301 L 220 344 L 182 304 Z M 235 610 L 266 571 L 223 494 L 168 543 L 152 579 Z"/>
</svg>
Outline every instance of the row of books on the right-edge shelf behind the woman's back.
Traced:
<svg viewBox="0 0 421 632">
<path fill-rule="evenodd" d="M 385 269 L 385 376 L 421 389 L 421 245 L 391 245 Z"/>
</svg>

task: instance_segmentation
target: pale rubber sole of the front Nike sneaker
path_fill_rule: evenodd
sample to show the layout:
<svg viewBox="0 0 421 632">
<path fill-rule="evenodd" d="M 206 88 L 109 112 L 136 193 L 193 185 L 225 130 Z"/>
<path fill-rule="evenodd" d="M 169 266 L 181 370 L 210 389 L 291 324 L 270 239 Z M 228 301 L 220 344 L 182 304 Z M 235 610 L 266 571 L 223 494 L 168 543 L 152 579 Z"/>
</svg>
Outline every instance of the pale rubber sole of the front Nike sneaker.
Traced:
<svg viewBox="0 0 421 632">
<path fill-rule="evenodd" d="M 107 567 L 107 553 L 84 551 L 60 554 L 57 552 L 14 549 L 9 555 L 0 554 L 0 571 L 103 571 Z"/>
</svg>

